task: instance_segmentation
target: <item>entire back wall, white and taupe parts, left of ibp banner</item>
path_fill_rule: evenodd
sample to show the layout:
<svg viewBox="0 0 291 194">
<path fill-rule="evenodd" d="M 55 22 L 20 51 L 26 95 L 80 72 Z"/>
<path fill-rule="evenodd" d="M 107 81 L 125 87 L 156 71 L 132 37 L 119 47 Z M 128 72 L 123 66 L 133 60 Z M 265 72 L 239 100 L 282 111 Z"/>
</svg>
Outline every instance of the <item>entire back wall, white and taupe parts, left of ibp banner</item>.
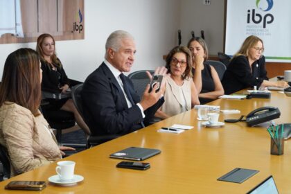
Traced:
<svg viewBox="0 0 291 194">
<path fill-rule="evenodd" d="M 127 30 L 136 40 L 136 60 L 131 71 L 155 69 L 177 45 L 177 30 L 182 30 L 185 45 L 191 30 L 203 29 L 210 53 L 222 51 L 224 0 L 85 0 L 85 39 L 58 41 L 56 51 L 69 78 L 84 81 L 103 62 L 105 41 L 114 30 Z M 202 19 L 203 16 L 206 18 Z M 186 38 L 186 36 L 188 37 Z M 0 44 L 0 78 L 9 53 L 28 44 Z"/>
</svg>

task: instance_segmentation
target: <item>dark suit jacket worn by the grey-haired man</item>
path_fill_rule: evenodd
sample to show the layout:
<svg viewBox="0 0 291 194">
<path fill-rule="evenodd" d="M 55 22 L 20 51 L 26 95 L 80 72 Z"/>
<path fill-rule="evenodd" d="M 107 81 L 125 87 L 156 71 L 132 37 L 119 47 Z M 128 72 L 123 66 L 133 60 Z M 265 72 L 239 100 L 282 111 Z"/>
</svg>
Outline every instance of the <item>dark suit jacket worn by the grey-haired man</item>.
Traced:
<svg viewBox="0 0 291 194">
<path fill-rule="evenodd" d="M 127 77 L 126 80 L 134 103 L 139 103 L 140 98 L 135 94 L 131 80 Z M 81 96 L 85 123 L 92 135 L 127 134 L 142 127 L 141 109 L 137 105 L 132 105 L 130 109 L 127 107 L 123 91 L 105 63 L 85 80 Z M 154 116 L 163 103 L 164 98 L 161 98 L 148 108 L 145 121 Z"/>
</svg>

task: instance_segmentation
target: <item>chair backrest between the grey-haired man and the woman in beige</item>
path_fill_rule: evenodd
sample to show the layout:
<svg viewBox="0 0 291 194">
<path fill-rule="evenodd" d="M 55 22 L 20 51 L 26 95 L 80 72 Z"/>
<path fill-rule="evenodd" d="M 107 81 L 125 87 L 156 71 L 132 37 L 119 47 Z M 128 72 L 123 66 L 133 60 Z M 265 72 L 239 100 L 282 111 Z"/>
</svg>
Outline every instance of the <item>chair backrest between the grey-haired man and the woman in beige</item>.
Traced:
<svg viewBox="0 0 291 194">
<path fill-rule="evenodd" d="M 153 70 L 140 70 L 134 71 L 127 76 L 132 80 L 136 94 L 140 97 L 143 95 L 146 85 L 150 83 L 150 78 L 148 78 L 146 71 L 149 71 L 152 74 L 155 73 Z"/>
</svg>

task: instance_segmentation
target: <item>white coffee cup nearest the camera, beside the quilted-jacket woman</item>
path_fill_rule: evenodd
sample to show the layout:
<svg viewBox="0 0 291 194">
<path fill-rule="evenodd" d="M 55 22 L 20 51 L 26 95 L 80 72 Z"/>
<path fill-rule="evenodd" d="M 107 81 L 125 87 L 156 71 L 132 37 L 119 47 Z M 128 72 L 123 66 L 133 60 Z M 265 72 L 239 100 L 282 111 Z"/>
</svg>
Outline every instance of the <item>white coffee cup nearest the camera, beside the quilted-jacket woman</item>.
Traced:
<svg viewBox="0 0 291 194">
<path fill-rule="evenodd" d="M 73 171 L 75 169 L 75 161 L 59 161 L 55 172 L 59 175 L 61 180 L 73 179 Z"/>
</svg>

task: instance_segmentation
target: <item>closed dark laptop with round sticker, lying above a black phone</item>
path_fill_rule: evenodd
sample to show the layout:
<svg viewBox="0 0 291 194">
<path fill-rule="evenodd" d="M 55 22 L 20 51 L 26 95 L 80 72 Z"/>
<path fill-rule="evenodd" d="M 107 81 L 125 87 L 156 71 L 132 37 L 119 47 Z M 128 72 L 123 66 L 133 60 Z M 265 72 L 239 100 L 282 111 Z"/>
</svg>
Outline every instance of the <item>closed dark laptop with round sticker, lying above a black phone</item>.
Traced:
<svg viewBox="0 0 291 194">
<path fill-rule="evenodd" d="M 159 153 L 161 153 L 161 150 L 130 147 L 124 150 L 120 150 L 118 152 L 114 152 L 113 154 L 109 155 L 109 157 L 117 159 L 130 159 L 134 161 L 143 161 L 145 159 L 148 159 L 149 157 L 158 155 Z"/>
</svg>

